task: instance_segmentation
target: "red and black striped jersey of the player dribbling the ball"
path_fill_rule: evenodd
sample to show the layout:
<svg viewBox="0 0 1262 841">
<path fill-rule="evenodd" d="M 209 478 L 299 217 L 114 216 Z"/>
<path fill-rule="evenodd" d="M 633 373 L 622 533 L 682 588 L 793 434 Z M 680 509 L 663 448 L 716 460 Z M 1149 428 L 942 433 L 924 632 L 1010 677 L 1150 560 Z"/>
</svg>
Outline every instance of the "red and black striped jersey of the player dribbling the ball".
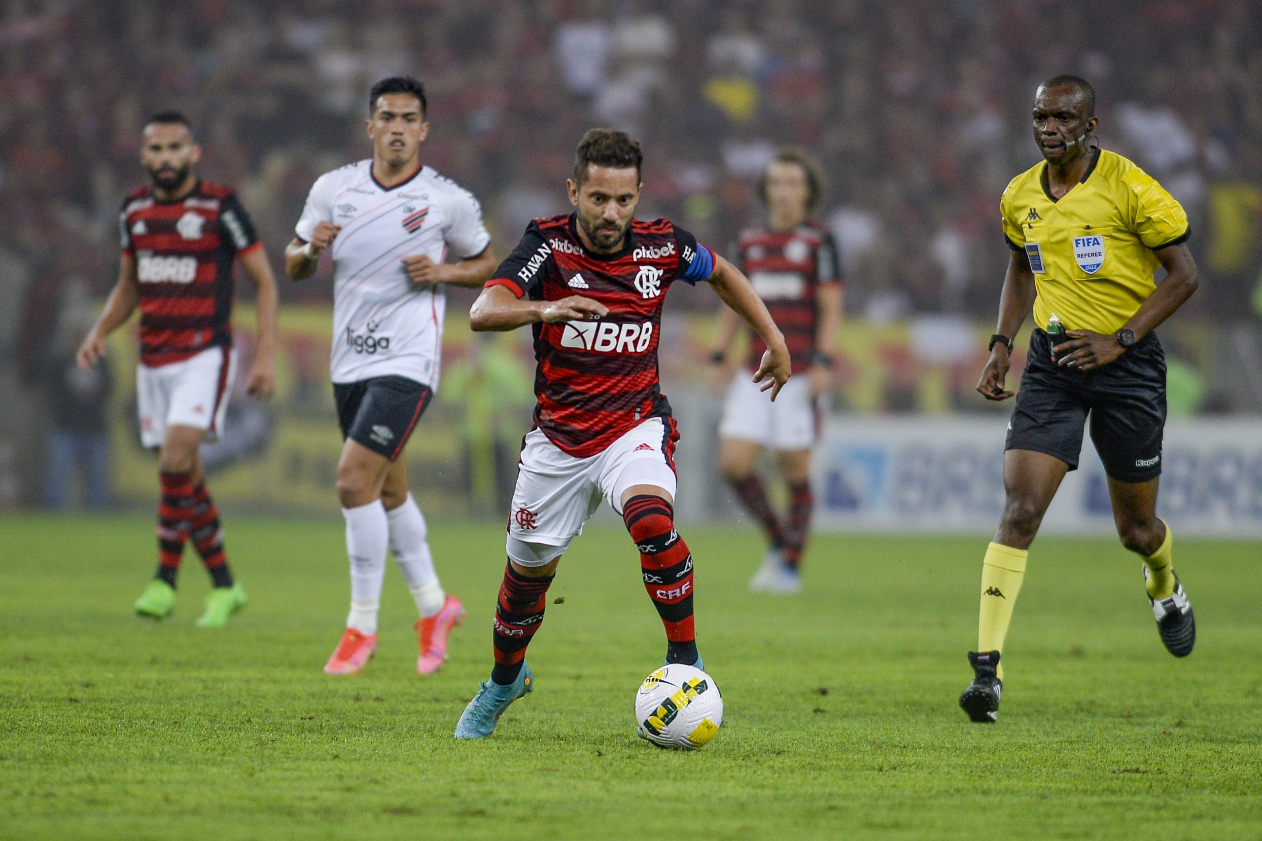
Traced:
<svg viewBox="0 0 1262 841">
<path fill-rule="evenodd" d="M 610 314 L 599 321 L 536 323 L 535 426 L 577 458 L 594 456 L 640 422 L 670 417 L 658 379 L 661 306 L 675 280 L 714 273 L 714 253 L 670 220 L 634 220 L 623 248 L 588 251 L 574 215 L 538 218 L 491 275 L 519 298 L 583 295 Z"/>
</svg>

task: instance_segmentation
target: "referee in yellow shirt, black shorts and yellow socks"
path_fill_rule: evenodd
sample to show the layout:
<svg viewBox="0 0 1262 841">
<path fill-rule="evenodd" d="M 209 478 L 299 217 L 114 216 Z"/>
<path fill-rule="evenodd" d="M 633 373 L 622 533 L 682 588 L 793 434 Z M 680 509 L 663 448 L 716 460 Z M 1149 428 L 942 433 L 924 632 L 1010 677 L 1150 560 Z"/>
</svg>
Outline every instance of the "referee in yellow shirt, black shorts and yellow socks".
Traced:
<svg viewBox="0 0 1262 841">
<path fill-rule="evenodd" d="M 1171 568 L 1170 527 L 1157 516 L 1166 365 L 1153 328 L 1196 289 L 1188 216 L 1161 184 L 1126 158 L 1088 144 L 1099 120 L 1095 91 L 1055 76 L 1034 100 L 1034 139 L 1045 159 L 1003 191 L 1012 249 L 998 330 L 977 390 L 1006 400 L 1012 337 L 1031 306 L 1035 331 L 1003 456 L 1007 500 L 982 566 L 976 678 L 959 703 L 994 721 L 1000 652 L 1026 556 L 1065 472 L 1078 467 L 1083 426 L 1108 474 L 1122 546 L 1143 561 L 1145 587 L 1166 649 L 1191 653 L 1196 624 Z M 1153 271 L 1166 270 L 1160 285 Z M 1061 325 L 1053 342 L 1045 330 Z"/>
</svg>

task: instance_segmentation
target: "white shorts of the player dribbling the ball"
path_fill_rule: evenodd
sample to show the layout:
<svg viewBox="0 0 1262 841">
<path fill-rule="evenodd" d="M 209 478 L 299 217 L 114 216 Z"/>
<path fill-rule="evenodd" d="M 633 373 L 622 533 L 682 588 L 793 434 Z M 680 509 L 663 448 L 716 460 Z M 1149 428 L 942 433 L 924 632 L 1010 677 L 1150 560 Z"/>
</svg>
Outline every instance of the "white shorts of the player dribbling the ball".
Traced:
<svg viewBox="0 0 1262 841">
<path fill-rule="evenodd" d="M 575 458 L 563 452 L 539 429 L 531 429 L 521 448 L 517 486 L 509 513 L 509 556 L 524 566 L 541 566 L 564 552 L 596 514 L 601 500 L 622 514 L 622 494 L 635 485 L 655 485 L 675 496 L 675 442 L 670 419 L 650 418 L 611 443 L 604 452 Z M 525 557 L 514 544 L 541 543 L 558 547 L 540 561 Z M 548 554 L 548 553 L 544 553 Z"/>
</svg>

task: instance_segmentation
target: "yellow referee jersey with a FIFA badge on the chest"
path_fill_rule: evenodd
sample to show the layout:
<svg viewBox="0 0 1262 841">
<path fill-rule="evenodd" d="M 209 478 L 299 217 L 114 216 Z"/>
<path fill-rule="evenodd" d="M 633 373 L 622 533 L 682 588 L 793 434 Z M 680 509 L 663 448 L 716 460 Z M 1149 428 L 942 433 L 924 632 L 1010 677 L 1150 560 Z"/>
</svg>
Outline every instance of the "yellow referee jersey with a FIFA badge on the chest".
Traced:
<svg viewBox="0 0 1262 841">
<path fill-rule="evenodd" d="M 1117 332 L 1156 285 L 1153 249 L 1188 239 L 1182 206 L 1119 154 L 1097 149 L 1083 179 L 1060 201 L 1047 164 L 1013 178 L 1000 198 L 1003 236 L 1034 270 L 1034 317 L 1055 313 L 1066 330 Z"/>
</svg>

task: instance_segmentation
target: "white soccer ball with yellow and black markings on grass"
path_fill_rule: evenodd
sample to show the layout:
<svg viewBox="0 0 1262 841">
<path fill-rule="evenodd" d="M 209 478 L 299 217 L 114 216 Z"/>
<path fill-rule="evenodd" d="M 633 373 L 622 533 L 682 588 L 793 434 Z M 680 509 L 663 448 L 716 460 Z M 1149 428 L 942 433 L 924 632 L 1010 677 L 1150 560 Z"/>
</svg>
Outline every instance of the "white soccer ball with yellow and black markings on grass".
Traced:
<svg viewBox="0 0 1262 841">
<path fill-rule="evenodd" d="M 695 750 L 723 724 L 723 695 L 714 678 L 693 665 L 664 665 L 635 696 L 640 732 L 659 748 Z"/>
</svg>

